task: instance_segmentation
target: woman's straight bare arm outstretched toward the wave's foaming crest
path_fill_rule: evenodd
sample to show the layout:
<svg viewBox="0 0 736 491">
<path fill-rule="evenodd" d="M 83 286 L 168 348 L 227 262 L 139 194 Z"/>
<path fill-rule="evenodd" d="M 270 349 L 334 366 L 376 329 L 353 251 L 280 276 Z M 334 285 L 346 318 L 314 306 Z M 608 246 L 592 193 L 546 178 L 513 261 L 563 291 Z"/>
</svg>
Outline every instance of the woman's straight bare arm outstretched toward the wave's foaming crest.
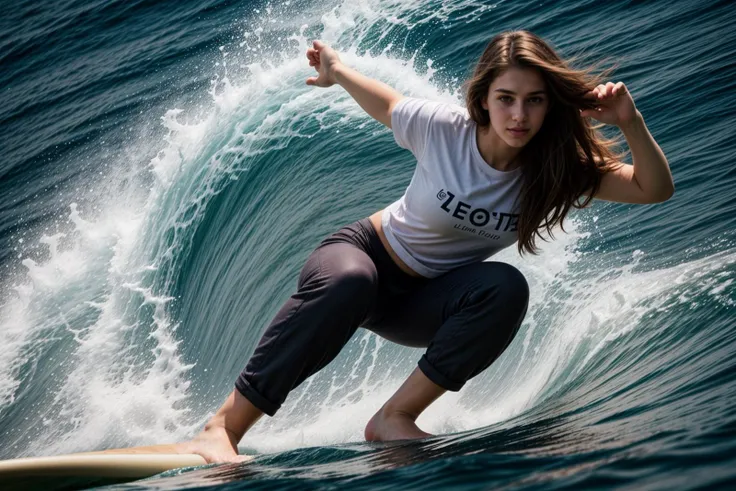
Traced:
<svg viewBox="0 0 736 491">
<path fill-rule="evenodd" d="M 403 96 L 383 82 L 373 80 L 343 65 L 337 52 L 322 41 L 314 41 L 307 49 L 309 66 L 317 71 L 307 85 L 330 87 L 341 85 L 371 117 L 391 127 L 391 111 Z"/>
</svg>

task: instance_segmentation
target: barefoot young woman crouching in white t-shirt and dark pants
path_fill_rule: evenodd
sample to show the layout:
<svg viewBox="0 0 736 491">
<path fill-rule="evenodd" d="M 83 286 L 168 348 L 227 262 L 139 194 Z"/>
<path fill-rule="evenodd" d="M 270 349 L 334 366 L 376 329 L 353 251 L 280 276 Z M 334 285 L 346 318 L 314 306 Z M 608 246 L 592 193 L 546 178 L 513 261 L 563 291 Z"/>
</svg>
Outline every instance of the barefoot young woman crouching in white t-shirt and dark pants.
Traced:
<svg viewBox="0 0 736 491">
<path fill-rule="evenodd" d="M 574 70 L 539 37 L 496 36 L 467 84 L 467 108 L 403 97 L 343 65 L 320 41 L 306 83 L 340 84 L 417 158 L 405 194 L 327 237 L 298 290 L 266 329 L 235 390 L 176 451 L 238 461 L 237 443 L 287 394 L 327 365 L 355 330 L 426 347 L 418 367 L 371 418 L 367 440 L 429 436 L 416 418 L 485 370 L 514 338 L 528 286 L 514 267 L 484 261 L 536 238 L 592 198 L 657 203 L 674 192 L 667 160 L 622 82 Z M 622 163 L 594 120 L 616 125 Z"/>
</svg>

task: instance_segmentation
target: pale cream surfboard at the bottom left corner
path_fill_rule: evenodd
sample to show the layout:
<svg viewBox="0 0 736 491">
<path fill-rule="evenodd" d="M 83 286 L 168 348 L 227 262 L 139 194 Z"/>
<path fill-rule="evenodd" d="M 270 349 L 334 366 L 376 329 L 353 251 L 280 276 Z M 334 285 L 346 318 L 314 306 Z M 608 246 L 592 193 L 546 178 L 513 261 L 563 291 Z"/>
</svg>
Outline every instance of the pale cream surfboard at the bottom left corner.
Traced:
<svg viewBox="0 0 736 491">
<path fill-rule="evenodd" d="M 0 489 L 82 489 L 134 481 L 172 469 L 207 463 L 195 454 L 161 453 L 169 449 L 168 447 L 170 446 L 134 447 L 2 460 Z"/>
</svg>

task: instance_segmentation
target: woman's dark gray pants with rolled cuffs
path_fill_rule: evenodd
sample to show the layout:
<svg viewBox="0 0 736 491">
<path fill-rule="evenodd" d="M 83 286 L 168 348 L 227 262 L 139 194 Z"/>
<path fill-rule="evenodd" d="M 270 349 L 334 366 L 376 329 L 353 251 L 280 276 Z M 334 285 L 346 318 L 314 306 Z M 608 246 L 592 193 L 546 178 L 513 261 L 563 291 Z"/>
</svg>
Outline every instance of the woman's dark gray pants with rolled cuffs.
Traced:
<svg viewBox="0 0 736 491">
<path fill-rule="evenodd" d="M 365 218 L 320 243 L 298 290 L 266 329 L 235 387 L 273 416 L 288 393 L 340 352 L 359 326 L 405 346 L 426 347 L 419 368 L 451 391 L 493 363 L 526 314 L 524 276 L 500 262 L 438 278 L 399 269 Z"/>
</svg>

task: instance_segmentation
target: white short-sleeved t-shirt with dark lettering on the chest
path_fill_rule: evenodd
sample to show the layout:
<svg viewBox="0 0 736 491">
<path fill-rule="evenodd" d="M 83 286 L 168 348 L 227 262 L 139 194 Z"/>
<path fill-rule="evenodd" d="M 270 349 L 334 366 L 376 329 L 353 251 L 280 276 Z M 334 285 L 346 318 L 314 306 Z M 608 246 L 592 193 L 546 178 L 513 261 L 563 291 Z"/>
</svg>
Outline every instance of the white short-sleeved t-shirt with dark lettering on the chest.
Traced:
<svg viewBox="0 0 736 491">
<path fill-rule="evenodd" d="M 382 225 L 411 269 L 435 278 L 516 242 L 521 168 L 502 172 L 483 160 L 465 108 L 406 97 L 394 107 L 391 127 L 417 167 Z"/>
</svg>

